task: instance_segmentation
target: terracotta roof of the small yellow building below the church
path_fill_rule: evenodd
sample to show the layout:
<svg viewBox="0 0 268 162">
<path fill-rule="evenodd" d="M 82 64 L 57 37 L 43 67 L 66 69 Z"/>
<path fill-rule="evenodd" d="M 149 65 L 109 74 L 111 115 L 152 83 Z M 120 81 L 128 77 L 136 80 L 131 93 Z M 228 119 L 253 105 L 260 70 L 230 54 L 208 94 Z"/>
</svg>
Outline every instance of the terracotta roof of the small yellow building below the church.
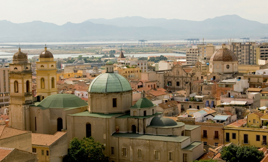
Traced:
<svg viewBox="0 0 268 162">
<path fill-rule="evenodd" d="M 62 137 L 66 132 L 57 131 L 54 135 L 32 133 L 32 144 L 49 146 Z"/>
</svg>

